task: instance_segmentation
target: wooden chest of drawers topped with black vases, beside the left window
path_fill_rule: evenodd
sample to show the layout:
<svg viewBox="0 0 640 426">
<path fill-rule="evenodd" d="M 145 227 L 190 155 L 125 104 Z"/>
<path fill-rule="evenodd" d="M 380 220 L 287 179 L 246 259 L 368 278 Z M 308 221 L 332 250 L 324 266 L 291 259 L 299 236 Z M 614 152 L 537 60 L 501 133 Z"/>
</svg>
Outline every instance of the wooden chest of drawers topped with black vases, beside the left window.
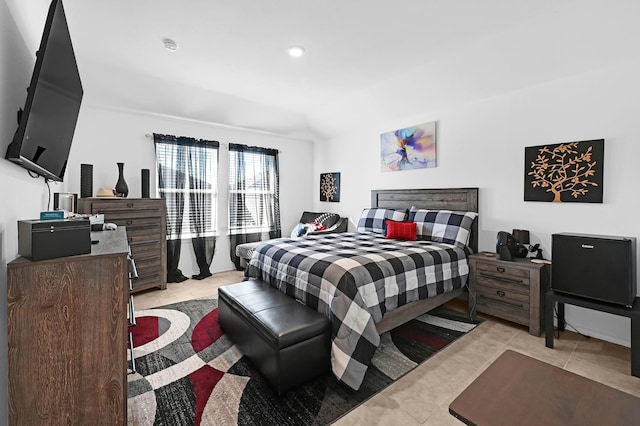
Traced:
<svg viewBox="0 0 640 426">
<path fill-rule="evenodd" d="M 104 214 L 104 221 L 127 227 L 138 268 L 133 292 L 167 288 L 167 207 L 162 198 L 81 198 L 78 213 Z"/>
</svg>

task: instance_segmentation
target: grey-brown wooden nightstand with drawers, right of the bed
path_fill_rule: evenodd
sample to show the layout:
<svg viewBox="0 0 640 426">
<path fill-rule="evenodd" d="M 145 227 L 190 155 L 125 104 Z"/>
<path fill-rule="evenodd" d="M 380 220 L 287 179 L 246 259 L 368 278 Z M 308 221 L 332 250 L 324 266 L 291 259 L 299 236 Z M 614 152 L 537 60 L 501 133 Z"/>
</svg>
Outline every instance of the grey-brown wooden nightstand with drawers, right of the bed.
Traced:
<svg viewBox="0 0 640 426">
<path fill-rule="evenodd" d="M 542 333 L 550 265 L 533 263 L 531 258 L 504 261 L 478 253 L 469 256 L 469 267 L 469 292 L 475 296 L 469 297 L 470 311 L 526 325 L 534 336 Z"/>
</svg>

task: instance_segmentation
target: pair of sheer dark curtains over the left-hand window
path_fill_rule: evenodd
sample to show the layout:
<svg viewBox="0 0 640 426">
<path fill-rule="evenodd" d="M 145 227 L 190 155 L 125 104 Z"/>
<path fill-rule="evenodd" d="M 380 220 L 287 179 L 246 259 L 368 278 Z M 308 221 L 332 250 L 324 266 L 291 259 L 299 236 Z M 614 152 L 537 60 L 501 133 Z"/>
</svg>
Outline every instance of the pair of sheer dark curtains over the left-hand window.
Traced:
<svg viewBox="0 0 640 426">
<path fill-rule="evenodd" d="M 209 158 L 217 162 L 218 142 L 198 141 L 192 138 L 170 135 L 153 135 L 156 156 L 158 157 L 158 183 L 160 196 L 167 204 L 167 282 L 182 282 L 187 279 L 178 268 L 182 245 L 184 221 L 185 188 L 189 182 L 189 231 L 195 237 L 192 245 L 196 262 L 200 269 L 192 278 L 202 279 L 211 276 L 209 267 L 215 252 L 214 230 L 206 229 L 207 215 L 215 214 L 211 198 L 199 191 L 206 185 L 206 173 Z M 165 145 L 159 148 L 159 145 Z M 215 150 L 215 156 L 207 157 L 206 150 Z M 162 158 L 161 158 L 162 157 Z M 215 164 L 217 168 L 217 163 Z M 170 191 L 171 189 L 177 191 Z M 210 188 L 208 188 L 210 189 Z"/>
</svg>

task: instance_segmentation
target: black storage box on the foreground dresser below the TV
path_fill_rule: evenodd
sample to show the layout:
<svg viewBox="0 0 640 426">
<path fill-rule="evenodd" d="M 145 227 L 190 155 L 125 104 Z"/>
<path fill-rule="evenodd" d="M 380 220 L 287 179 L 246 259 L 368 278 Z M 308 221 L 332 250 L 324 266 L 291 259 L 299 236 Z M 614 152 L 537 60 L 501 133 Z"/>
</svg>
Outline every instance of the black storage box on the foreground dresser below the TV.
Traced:
<svg viewBox="0 0 640 426">
<path fill-rule="evenodd" d="M 91 253 L 89 219 L 19 220 L 18 254 L 31 260 Z"/>
</svg>

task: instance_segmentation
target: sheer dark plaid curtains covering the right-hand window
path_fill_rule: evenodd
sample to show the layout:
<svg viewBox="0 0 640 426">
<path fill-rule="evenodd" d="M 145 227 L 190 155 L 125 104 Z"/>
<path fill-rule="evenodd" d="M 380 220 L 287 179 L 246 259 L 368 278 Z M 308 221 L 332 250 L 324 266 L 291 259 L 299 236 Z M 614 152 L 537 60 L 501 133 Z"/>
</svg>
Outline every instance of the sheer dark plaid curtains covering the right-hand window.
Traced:
<svg viewBox="0 0 640 426">
<path fill-rule="evenodd" d="M 282 236 L 278 151 L 229 144 L 229 152 L 235 153 L 235 164 L 229 165 L 230 255 L 242 270 L 236 255 L 239 244 Z"/>
</svg>

